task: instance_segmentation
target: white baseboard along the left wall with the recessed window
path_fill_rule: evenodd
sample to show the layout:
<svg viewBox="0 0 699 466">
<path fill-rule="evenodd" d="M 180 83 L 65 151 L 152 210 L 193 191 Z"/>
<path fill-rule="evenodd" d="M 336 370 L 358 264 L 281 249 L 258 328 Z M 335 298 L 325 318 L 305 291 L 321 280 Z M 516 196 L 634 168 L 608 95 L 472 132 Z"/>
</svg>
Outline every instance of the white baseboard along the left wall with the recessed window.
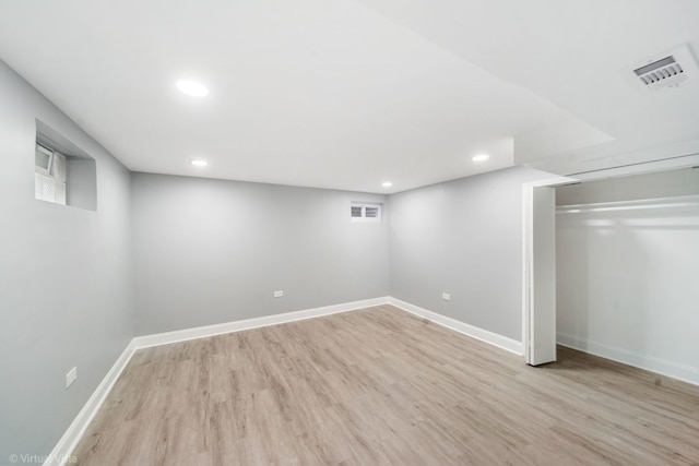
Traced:
<svg viewBox="0 0 699 466">
<path fill-rule="evenodd" d="M 87 403 L 85 403 L 80 413 L 78 413 L 78 416 L 75 416 L 75 419 L 73 419 L 73 422 L 71 422 L 68 430 L 66 430 L 61 440 L 58 441 L 54 451 L 51 451 L 46 458 L 44 466 L 71 464 L 71 454 L 73 453 L 75 445 L 78 445 L 78 442 L 85 433 L 87 426 L 90 426 L 90 422 L 92 422 L 93 418 L 102 407 L 102 404 L 107 398 L 107 395 L 114 387 L 117 379 L 121 375 L 123 368 L 126 368 L 131 360 L 131 356 L 133 356 L 134 350 L 135 347 L 133 345 L 133 340 L 131 340 L 119 358 L 117 358 L 117 361 L 114 363 L 111 369 L 109 369 L 109 372 L 107 372 L 99 385 L 97 385 L 97 389 L 95 389 L 90 399 L 87 399 Z"/>
</svg>

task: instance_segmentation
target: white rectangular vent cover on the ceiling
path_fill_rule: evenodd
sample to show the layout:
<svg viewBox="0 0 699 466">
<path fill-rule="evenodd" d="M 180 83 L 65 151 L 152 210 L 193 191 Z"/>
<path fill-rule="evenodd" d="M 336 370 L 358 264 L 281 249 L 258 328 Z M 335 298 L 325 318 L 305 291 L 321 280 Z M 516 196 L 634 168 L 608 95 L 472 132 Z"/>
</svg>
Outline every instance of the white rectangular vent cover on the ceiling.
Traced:
<svg viewBox="0 0 699 466">
<path fill-rule="evenodd" d="M 642 87 L 659 91 L 699 77 L 699 68 L 689 47 L 684 45 L 635 67 L 633 74 Z"/>
</svg>

